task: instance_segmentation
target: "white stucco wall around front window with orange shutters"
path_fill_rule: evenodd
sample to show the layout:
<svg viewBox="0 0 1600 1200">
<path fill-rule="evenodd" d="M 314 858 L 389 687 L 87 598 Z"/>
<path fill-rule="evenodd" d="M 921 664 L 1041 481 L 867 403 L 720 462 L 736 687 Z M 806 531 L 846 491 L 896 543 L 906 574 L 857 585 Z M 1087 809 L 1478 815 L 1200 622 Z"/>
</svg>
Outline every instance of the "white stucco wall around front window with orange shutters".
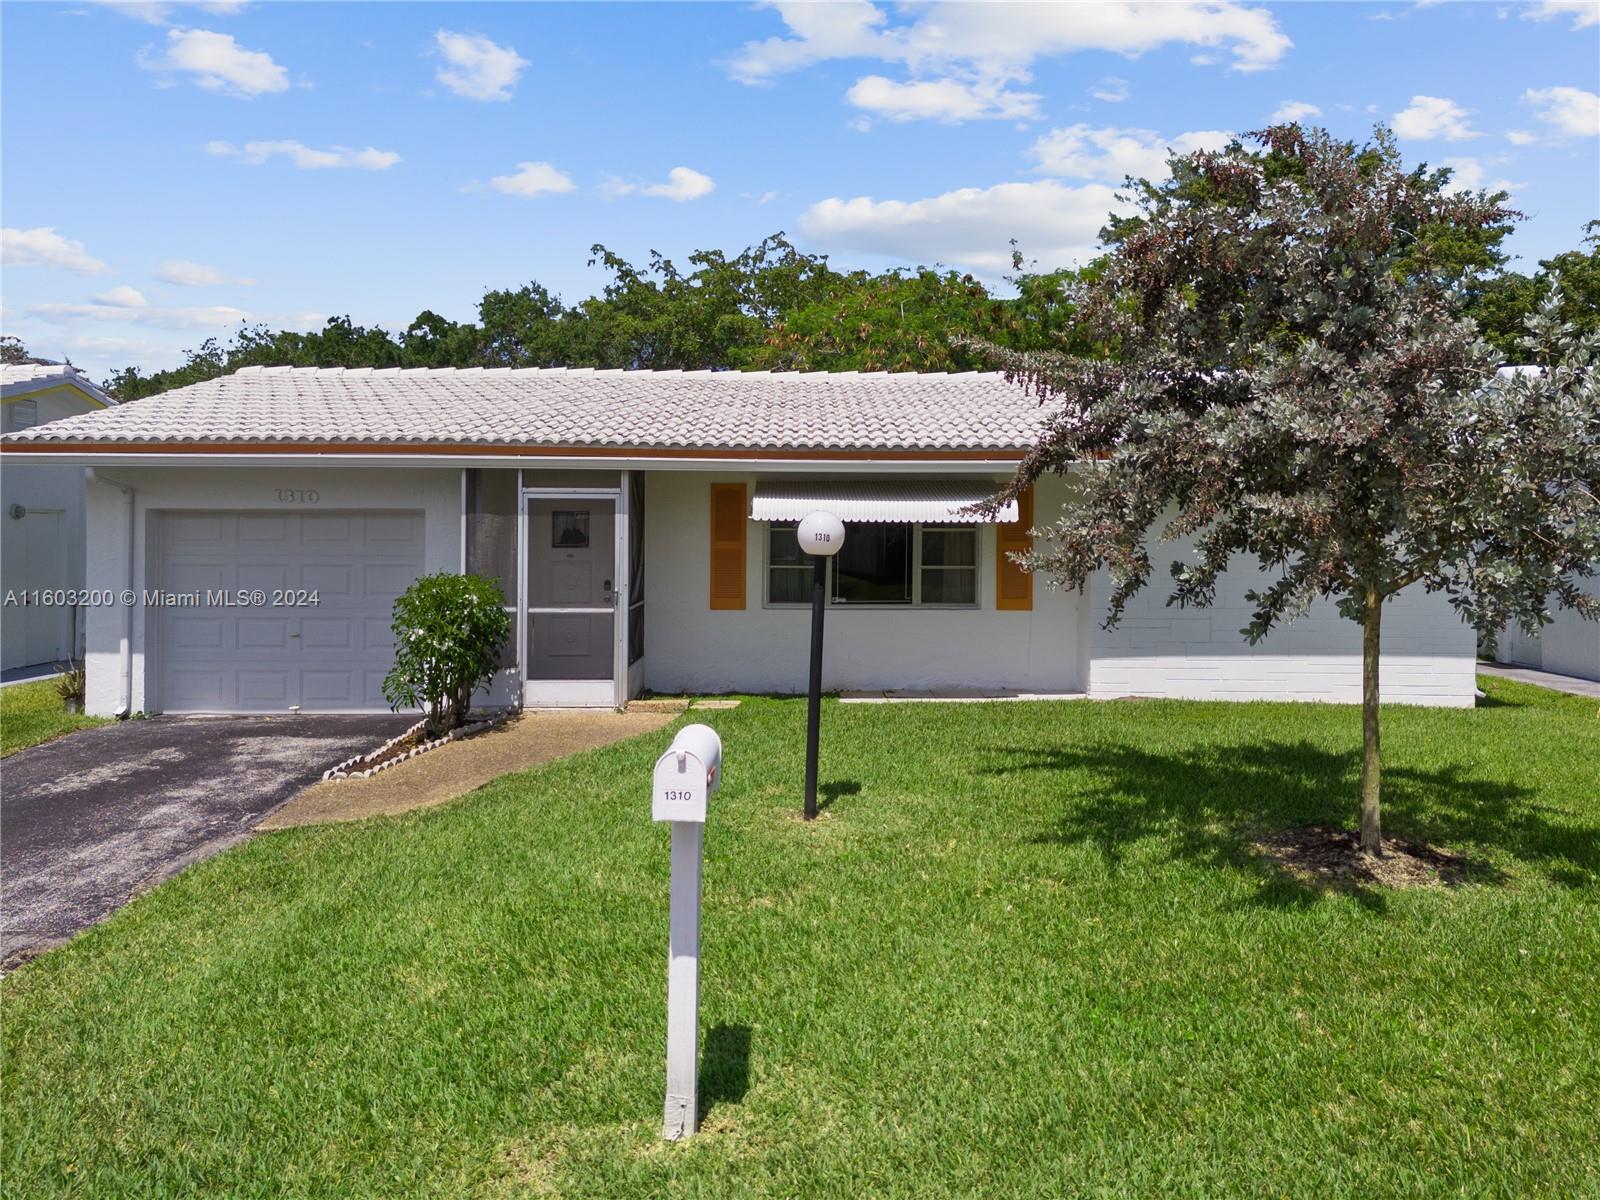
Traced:
<svg viewBox="0 0 1600 1200">
<path fill-rule="evenodd" d="M 712 483 L 754 491 L 755 475 L 656 470 L 645 485 L 645 686 L 805 691 L 810 610 L 765 606 L 763 523 L 747 525 L 746 608 L 709 606 Z M 1040 483 L 1040 512 L 1059 486 Z M 1080 691 L 1078 597 L 1040 579 L 1030 613 L 997 611 L 994 526 L 979 526 L 978 546 L 976 610 L 830 608 L 822 686 Z"/>
</svg>

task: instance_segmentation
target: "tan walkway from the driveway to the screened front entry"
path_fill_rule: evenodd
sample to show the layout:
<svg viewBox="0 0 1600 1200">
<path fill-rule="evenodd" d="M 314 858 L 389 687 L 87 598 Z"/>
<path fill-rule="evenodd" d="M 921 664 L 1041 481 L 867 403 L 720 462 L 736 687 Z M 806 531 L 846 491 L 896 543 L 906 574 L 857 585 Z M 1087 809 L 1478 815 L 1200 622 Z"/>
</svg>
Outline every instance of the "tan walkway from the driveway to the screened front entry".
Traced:
<svg viewBox="0 0 1600 1200">
<path fill-rule="evenodd" d="M 594 709 L 525 712 L 496 730 L 419 754 L 400 766 L 379 771 L 371 779 L 331 779 L 312 784 L 256 827 L 320 826 L 330 821 L 360 821 L 368 816 L 394 816 L 414 808 L 430 808 L 466 795 L 507 771 L 525 771 L 568 754 L 654 733 L 674 720 L 677 720 L 675 712 Z"/>
</svg>

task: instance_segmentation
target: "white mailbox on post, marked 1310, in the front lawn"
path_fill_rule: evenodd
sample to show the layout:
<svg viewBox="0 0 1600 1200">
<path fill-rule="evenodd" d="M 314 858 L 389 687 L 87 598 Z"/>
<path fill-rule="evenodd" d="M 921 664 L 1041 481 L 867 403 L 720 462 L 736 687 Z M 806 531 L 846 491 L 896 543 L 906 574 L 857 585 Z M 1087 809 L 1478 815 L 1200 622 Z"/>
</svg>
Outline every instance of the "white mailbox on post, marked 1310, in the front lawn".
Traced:
<svg viewBox="0 0 1600 1200">
<path fill-rule="evenodd" d="M 672 902 L 667 933 L 667 1104 L 661 1136 L 694 1133 L 699 1066 L 699 909 L 706 802 L 722 786 L 722 738 L 685 725 L 656 760 L 650 816 L 672 822 Z"/>
</svg>

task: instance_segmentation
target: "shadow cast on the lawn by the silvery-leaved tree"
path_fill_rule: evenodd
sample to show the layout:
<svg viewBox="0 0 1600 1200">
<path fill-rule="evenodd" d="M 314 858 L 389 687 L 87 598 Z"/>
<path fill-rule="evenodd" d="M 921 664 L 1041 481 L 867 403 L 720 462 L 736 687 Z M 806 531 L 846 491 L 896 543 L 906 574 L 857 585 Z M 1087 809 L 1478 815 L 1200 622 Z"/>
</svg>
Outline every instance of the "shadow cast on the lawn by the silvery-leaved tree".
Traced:
<svg viewBox="0 0 1600 1200">
<path fill-rule="evenodd" d="M 1152 752 L 1118 742 L 1064 749 L 992 747 L 987 774 L 1045 773 L 1059 778 L 1069 805 L 1035 843 L 1094 845 L 1118 864 L 1126 846 L 1152 835 L 1174 838 L 1173 856 L 1261 875 L 1256 902 L 1309 904 L 1328 885 L 1275 867 L 1254 853 L 1262 834 L 1299 826 L 1349 827 L 1358 806 L 1360 752 L 1330 752 L 1310 742 L 1197 746 Z M 1600 872 L 1600 832 L 1552 821 L 1552 810 L 1514 782 L 1480 779 L 1461 766 L 1422 771 L 1384 768 L 1384 834 L 1458 850 L 1477 843 L 1502 850 L 1565 886 L 1586 886 Z M 1501 883 L 1504 874 L 1467 861 L 1461 882 Z M 1382 909 L 1384 893 L 1341 885 Z"/>
</svg>

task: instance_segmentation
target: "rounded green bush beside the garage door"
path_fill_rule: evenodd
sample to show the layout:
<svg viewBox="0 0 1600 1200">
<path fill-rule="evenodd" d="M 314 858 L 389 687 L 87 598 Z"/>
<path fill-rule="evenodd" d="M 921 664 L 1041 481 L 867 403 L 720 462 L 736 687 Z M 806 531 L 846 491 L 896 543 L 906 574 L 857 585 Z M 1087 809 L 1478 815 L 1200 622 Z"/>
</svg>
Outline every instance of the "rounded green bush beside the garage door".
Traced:
<svg viewBox="0 0 1600 1200">
<path fill-rule="evenodd" d="M 472 691 L 499 669 L 510 614 L 493 579 L 440 571 L 395 600 L 394 634 L 384 699 L 427 712 L 427 736 L 438 738 L 466 722 Z"/>
</svg>

